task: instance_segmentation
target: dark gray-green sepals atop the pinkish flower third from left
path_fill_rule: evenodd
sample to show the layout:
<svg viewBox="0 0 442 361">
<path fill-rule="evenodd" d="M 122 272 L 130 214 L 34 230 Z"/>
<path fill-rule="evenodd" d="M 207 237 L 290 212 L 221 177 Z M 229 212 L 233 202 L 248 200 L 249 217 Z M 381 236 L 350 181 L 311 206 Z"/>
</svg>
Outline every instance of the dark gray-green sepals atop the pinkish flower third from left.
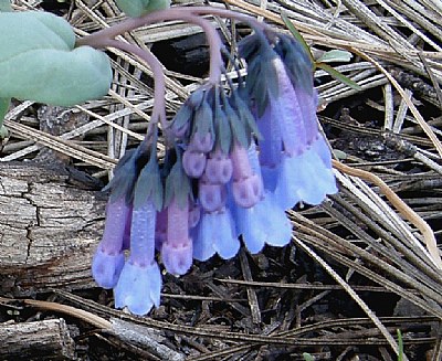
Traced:
<svg viewBox="0 0 442 361">
<path fill-rule="evenodd" d="M 181 156 L 177 157 L 177 161 L 175 162 L 170 173 L 166 179 L 166 194 L 165 194 L 165 208 L 170 204 L 170 202 L 175 199 L 179 208 L 185 208 L 188 204 L 189 198 L 191 198 L 191 187 L 190 179 L 186 174 Z"/>
</svg>

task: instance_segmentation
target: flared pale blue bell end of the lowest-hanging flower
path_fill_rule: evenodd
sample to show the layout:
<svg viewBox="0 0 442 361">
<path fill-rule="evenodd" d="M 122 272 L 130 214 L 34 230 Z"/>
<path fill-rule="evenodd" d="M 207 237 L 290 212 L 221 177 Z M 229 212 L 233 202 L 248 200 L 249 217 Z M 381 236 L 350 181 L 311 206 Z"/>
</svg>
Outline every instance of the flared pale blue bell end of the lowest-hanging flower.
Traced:
<svg viewBox="0 0 442 361">
<path fill-rule="evenodd" d="M 131 314 L 146 315 L 159 305 L 161 273 L 156 262 L 140 266 L 126 262 L 114 288 L 115 307 L 127 307 Z"/>
</svg>

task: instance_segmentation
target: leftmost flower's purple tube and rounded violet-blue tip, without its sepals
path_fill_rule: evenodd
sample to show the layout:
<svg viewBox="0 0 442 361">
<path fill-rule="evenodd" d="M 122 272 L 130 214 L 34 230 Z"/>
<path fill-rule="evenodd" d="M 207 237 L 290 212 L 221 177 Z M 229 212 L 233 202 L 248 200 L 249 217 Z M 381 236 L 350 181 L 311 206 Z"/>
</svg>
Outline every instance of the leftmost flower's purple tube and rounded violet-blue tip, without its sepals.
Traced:
<svg viewBox="0 0 442 361">
<path fill-rule="evenodd" d="M 124 265 L 123 240 L 130 208 L 124 197 L 106 209 L 106 223 L 102 242 L 92 261 L 92 275 L 103 288 L 113 288 Z"/>
</svg>

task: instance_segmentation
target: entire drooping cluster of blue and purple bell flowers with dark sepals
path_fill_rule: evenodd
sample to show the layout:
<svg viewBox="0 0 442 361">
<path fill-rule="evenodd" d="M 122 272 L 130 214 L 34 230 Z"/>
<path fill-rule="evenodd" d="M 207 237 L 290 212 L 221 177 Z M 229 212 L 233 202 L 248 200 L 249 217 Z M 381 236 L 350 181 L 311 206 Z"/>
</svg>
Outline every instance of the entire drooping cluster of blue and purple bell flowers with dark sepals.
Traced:
<svg viewBox="0 0 442 361">
<path fill-rule="evenodd" d="M 115 170 L 93 275 L 114 288 L 116 307 L 144 315 L 159 305 L 156 249 L 182 275 L 193 258 L 233 257 L 241 240 L 251 253 L 283 246 L 285 210 L 337 191 L 305 50 L 255 30 L 239 54 L 248 76 L 196 91 L 167 129 L 173 141 L 161 161 L 150 136 Z"/>
</svg>

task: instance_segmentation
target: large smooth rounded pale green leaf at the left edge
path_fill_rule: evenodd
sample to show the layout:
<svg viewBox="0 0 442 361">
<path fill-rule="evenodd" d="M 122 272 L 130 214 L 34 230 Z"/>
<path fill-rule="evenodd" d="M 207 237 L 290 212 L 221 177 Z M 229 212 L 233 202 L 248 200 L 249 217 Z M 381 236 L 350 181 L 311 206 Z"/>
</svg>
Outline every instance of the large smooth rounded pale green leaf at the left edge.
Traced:
<svg viewBox="0 0 442 361">
<path fill-rule="evenodd" d="M 75 46 L 64 19 L 48 12 L 0 12 L 0 97 L 72 106 L 107 94 L 107 55 Z"/>
</svg>

